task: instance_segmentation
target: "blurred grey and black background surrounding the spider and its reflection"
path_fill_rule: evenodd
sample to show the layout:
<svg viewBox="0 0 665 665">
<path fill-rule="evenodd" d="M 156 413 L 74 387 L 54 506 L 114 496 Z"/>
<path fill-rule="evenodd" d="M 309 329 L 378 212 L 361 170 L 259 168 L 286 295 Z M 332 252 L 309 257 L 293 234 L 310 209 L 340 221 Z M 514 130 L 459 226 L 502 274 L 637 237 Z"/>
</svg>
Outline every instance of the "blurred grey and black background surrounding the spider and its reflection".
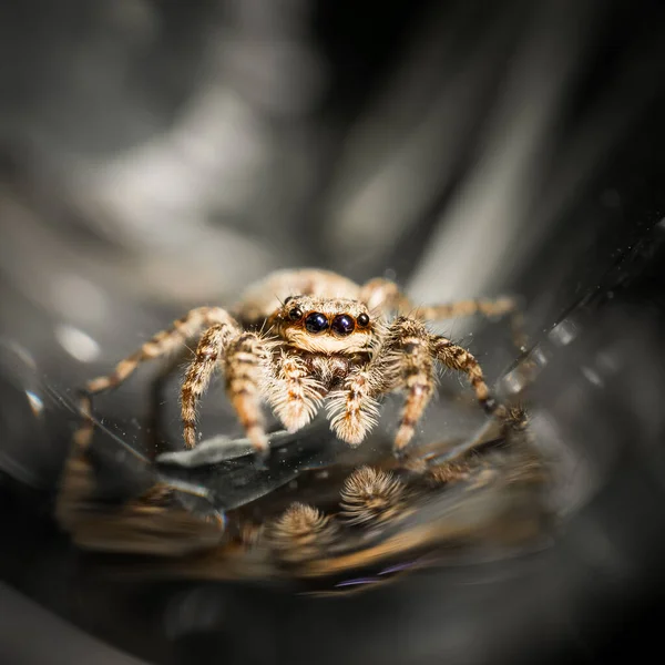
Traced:
<svg viewBox="0 0 665 665">
<path fill-rule="evenodd" d="M 585 662 L 655 640 L 663 117 L 658 0 L 3 3 L 3 662 Z M 567 538 L 510 574 L 355 602 L 160 587 L 142 640 L 126 598 L 86 623 L 43 499 L 74 389 L 188 308 L 297 266 L 386 276 L 423 304 L 523 299 L 555 359 L 536 387 L 549 434 L 586 461 Z M 487 330 L 443 329 L 494 378 L 509 365 Z"/>
</svg>

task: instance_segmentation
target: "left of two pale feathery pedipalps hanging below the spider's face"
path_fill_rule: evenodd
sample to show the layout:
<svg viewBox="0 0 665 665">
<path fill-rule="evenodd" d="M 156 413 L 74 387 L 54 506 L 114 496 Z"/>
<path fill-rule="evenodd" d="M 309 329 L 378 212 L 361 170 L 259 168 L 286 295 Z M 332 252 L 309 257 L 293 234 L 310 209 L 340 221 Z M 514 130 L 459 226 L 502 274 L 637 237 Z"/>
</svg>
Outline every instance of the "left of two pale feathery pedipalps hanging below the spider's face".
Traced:
<svg viewBox="0 0 665 665">
<path fill-rule="evenodd" d="M 289 432 L 305 427 L 318 411 L 323 388 L 297 356 L 282 351 L 268 383 L 268 401 Z"/>
</svg>

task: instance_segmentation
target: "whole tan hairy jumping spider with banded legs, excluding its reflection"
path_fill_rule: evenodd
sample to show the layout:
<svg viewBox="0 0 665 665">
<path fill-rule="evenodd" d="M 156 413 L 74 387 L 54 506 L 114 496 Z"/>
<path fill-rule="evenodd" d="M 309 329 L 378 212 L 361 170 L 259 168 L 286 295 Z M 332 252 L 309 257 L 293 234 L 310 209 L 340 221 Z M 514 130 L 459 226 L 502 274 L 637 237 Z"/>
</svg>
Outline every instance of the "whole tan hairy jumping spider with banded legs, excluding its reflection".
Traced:
<svg viewBox="0 0 665 665">
<path fill-rule="evenodd" d="M 402 390 L 405 406 L 395 438 L 395 449 L 401 451 L 431 398 L 437 361 L 464 372 L 488 412 L 498 408 L 475 358 L 429 332 L 424 320 L 513 309 L 509 298 L 413 307 L 386 279 L 359 286 L 324 270 L 284 270 L 250 287 L 229 311 L 193 309 L 119 362 L 111 375 L 90 381 L 86 391 L 120 385 L 144 360 L 164 356 L 203 331 L 182 386 L 187 448 L 196 443 L 196 402 L 221 368 L 228 399 L 257 451 L 266 451 L 268 444 L 264 397 L 289 431 L 307 424 L 325 400 L 331 429 L 356 446 L 376 423 L 377 400 Z M 408 316 L 390 319 L 391 313 Z"/>
</svg>

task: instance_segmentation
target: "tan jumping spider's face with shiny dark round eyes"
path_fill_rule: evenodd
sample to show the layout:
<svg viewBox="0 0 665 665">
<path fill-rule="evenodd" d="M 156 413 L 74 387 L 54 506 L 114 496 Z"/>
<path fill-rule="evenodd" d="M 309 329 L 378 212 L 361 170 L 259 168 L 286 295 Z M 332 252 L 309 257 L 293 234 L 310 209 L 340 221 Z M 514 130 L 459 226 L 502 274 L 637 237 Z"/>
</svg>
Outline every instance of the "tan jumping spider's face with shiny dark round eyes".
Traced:
<svg viewBox="0 0 665 665">
<path fill-rule="evenodd" d="M 273 325 L 295 347 L 316 354 L 357 354 L 371 345 L 374 324 L 358 300 L 291 296 Z"/>
</svg>

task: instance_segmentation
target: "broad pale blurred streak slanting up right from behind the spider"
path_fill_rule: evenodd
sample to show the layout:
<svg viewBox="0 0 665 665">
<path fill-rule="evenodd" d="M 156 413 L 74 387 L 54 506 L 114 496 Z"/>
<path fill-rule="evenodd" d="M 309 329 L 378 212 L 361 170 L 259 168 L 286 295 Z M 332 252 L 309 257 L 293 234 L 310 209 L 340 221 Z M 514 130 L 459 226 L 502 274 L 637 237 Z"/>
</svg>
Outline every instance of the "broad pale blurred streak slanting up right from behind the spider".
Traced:
<svg viewBox="0 0 665 665">
<path fill-rule="evenodd" d="M 480 139 L 471 173 L 443 212 L 411 278 L 418 299 L 487 293 L 521 262 L 521 236 L 542 224 L 533 211 L 584 47 L 593 41 L 595 2 L 540 3 L 512 60 Z"/>
</svg>

